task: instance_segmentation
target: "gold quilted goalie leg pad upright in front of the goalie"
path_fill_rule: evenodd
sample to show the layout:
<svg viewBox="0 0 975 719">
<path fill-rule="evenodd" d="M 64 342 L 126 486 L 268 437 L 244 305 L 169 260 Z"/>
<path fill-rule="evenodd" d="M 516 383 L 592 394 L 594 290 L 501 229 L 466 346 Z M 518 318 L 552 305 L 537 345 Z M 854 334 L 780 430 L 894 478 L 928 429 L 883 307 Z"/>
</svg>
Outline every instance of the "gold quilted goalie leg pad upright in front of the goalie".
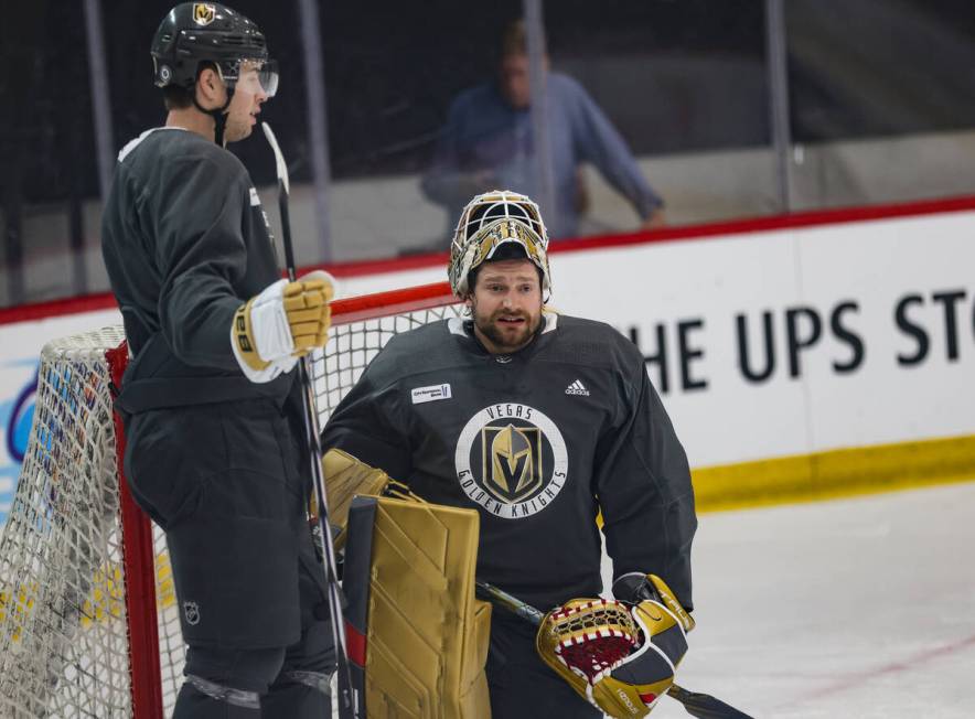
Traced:
<svg viewBox="0 0 975 719">
<path fill-rule="evenodd" d="M 352 501 L 346 629 L 371 719 L 490 719 L 491 607 L 474 599 L 478 526 L 472 509 Z"/>
</svg>

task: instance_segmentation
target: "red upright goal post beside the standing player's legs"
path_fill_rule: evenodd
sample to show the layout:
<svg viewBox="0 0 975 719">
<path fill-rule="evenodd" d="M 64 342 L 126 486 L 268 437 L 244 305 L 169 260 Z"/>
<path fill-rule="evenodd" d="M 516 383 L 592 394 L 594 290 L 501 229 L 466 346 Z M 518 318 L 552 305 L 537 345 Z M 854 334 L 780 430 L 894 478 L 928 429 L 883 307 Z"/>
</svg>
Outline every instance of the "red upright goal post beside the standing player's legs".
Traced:
<svg viewBox="0 0 975 719">
<path fill-rule="evenodd" d="M 105 353 L 115 387 L 121 386 L 129 348 L 124 341 Z M 113 410 L 115 451 L 118 464 L 119 511 L 122 526 L 122 564 L 126 581 L 126 613 L 129 619 L 129 666 L 132 716 L 163 719 L 162 672 L 159 659 L 159 625 L 156 610 L 156 550 L 152 524 L 139 508 L 126 482 L 124 458 L 126 436 L 119 414 Z"/>
</svg>

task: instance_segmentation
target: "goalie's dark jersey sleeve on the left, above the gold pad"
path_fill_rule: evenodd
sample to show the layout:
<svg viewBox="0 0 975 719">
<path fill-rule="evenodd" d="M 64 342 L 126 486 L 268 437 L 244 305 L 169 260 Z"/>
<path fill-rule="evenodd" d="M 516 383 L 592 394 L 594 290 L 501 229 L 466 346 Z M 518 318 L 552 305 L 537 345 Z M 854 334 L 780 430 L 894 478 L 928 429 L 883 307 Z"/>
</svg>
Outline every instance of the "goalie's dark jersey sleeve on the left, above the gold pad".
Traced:
<svg viewBox="0 0 975 719">
<path fill-rule="evenodd" d="M 342 399 L 322 430 L 322 450 L 341 449 L 399 482 L 413 470 L 407 420 L 396 385 L 377 386 L 372 366 Z"/>
</svg>

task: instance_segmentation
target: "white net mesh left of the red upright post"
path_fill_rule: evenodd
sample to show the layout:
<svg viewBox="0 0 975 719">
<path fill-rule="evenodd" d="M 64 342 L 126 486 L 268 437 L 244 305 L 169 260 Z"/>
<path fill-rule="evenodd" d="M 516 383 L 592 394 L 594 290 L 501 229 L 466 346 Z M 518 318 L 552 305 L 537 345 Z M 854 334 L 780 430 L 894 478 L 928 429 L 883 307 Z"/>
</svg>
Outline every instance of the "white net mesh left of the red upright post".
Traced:
<svg viewBox="0 0 975 719">
<path fill-rule="evenodd" d="M 34 425 L 0 538 L 0 715 L 129 704 L 107 330 L 41 354 Z"/>
</svg>

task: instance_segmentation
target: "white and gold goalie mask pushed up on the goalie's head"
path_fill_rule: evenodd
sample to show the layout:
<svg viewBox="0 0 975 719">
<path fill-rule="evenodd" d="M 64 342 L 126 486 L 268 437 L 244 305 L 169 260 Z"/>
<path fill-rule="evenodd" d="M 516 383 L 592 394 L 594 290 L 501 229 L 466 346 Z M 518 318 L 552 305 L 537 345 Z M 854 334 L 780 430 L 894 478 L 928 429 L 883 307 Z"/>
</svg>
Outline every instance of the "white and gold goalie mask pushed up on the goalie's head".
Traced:
<svg viewBox="0 0 975 719">
<path fill-rule="evenodd" d="M 542 291 L 551 291 L 548 271 L 548 233 L 538 205 L 525 195 L 492 190 L 471 200 L 460 215 L 447 275 L 457 297 L 471 288 L 471 270 L 494 257 L 499 247 L 518 245 L 525 257 L 542 270 Z"/>
</svg>

